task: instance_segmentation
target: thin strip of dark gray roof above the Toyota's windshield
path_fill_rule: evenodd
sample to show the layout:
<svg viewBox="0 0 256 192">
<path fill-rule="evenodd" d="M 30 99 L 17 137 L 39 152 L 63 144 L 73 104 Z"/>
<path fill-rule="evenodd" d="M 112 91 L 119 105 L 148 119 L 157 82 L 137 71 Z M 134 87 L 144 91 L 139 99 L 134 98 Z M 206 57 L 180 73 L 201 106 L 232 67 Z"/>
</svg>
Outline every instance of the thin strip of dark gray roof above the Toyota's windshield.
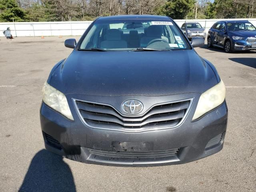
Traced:
<svg viewBox="0 0 256 192">
<path fill-rule="evenodd" d="M 171 20 L 167 16 L 159 15 L 115 15 L 115 16 L 106 16 L 99 17 L 97 20 L 118 20 L 118 19 L 159 19 L 159 20 Z"/>
</svg>

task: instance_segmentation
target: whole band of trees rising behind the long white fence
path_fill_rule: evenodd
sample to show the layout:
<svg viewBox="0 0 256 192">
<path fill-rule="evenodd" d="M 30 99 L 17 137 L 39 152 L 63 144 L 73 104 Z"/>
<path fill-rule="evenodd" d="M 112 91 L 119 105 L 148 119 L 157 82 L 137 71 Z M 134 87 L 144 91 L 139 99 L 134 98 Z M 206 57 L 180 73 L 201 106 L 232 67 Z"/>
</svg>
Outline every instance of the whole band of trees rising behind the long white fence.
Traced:
<svg viewBox="0 0 256 192">
<path fill-rule="evenodd" d="M 16 22 L 94 20 L 118 14 L 156 14 L 173 19 L 255 18 L 256 0 L 0 0 L 0 22 L 12 18 Z"/>
</svg>

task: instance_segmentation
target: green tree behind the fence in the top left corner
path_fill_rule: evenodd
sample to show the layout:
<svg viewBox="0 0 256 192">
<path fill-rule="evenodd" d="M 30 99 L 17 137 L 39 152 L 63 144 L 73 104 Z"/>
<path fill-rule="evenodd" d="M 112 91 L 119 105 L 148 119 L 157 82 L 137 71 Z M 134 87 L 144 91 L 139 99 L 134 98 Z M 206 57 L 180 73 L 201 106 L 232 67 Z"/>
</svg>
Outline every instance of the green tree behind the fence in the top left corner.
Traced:
<svg viewBox="0 0 256 192">
<path fill-rule="evenodd" d="M 0 0 L 0 21 L 23 21 L 25 12 L 15 0 Z"/>
</svg>

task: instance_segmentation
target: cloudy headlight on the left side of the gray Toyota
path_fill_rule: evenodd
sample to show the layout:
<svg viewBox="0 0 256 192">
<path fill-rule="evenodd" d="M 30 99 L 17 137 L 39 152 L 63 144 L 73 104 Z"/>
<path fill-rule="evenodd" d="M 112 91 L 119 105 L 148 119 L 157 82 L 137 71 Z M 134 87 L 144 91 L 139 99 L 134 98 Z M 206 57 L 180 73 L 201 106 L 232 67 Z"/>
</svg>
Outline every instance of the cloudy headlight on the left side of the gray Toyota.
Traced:
<svg viewBox="0 0 256 192">
<path fill-rule="evenodd" d="M 54 110 L 60 112 L 70 120 L 74 120 L 66 96 L 50 86 L 47 82 L 44 83 L 43 87 L 43 101 L 46 105 Z"/>
</svg>

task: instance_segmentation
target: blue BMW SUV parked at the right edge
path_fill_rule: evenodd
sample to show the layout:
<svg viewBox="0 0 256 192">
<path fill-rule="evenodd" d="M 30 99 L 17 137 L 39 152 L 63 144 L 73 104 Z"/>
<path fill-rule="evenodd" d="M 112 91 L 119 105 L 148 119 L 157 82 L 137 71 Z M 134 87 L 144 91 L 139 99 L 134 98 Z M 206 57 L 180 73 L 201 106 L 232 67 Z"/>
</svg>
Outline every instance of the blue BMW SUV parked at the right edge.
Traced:
<svg viewBox="0 0 256 192">
<path fill-rule="evenodd" d="M 224 48 L 228 53 L 256 50 L 256 28 L 247 20 L 216 22 L 208 31 L 207 45 Z"/>
</svg>

